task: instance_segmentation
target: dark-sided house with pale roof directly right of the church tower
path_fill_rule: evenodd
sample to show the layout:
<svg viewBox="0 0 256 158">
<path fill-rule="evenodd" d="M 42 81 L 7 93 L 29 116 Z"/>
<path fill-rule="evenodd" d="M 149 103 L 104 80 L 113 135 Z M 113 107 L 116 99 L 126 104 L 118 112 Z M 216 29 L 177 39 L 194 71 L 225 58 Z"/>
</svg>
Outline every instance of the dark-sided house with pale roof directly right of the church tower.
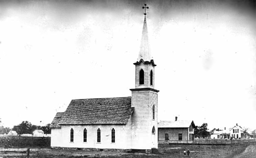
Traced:
<svg viewBox="0 0 256 158">
<path fill-rule="evenodd" d="M 194 140 L 194 121 L 177 120 L 160 121 L 158 123 L 159 143 L 166 141 L 193 141 Z"/>
</svg>

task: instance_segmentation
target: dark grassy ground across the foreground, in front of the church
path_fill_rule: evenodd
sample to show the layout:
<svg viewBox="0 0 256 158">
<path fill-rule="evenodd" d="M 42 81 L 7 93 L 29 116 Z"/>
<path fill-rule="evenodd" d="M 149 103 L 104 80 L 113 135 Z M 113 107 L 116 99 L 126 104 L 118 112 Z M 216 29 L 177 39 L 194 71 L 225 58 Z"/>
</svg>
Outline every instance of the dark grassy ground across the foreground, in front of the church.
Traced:
<svg viewBox="0 0 256 158">
<path fill-rule="evenodd" d="M 165 154 L 125 153 L 118 151 L 85 151 L 85 150 L 57 150 L 57 149 L 31 149 L 30 157 L 188 157 L 183 155 L 184 149 L 190 150 L 189 157 L 225 157 L 245 158 L 256 157 L 256 145 L 159 145 Z M 15 150 L 15 149 L 13 149 Z M 26 149 L 22 151 L 6 151 L 0 149 L 0 158 L 26 157 Z"/>
</svg>

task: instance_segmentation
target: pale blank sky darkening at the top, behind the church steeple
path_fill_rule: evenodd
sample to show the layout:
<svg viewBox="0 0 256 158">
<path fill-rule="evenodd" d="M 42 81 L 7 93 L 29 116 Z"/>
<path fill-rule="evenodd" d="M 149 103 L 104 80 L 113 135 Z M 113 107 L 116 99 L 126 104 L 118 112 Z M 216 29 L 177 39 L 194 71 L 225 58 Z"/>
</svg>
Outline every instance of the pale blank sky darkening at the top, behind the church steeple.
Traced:
<svg viewBox="0 0 256 158">
<path fill-rule="evenodd" d="M 144 3 L 159 120 L 256 129 L 255 1 L 0 1 L 2 124 L 131 96 Z"/>
</svg>

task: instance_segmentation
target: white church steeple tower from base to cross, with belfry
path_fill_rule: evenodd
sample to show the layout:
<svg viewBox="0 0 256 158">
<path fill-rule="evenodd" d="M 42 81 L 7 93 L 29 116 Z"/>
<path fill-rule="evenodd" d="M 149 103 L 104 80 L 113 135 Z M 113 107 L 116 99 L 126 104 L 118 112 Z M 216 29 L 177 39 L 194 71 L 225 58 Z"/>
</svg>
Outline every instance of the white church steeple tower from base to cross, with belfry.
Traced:
<svg viewBox="0 0 256 158">
<path fill-rule="evenodd" d="M 135 65 L 135 89 L 132 92 L 132 149 L 158 148 L 158 92 L 154 89 L 155 64 L 150 54 L 144 4 L 144 23 L 141 47 Z"/>
</svg>

